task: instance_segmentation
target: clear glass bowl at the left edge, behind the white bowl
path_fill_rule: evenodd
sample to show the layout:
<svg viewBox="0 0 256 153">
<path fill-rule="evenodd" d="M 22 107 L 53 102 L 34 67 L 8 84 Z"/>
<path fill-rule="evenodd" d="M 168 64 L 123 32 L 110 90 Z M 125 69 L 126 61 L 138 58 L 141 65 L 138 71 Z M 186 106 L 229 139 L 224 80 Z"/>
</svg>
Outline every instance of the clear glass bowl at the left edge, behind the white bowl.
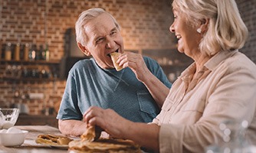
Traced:
<svg viewBox="0 0 256 153">
<path fill-rule="evenodd" d="M 15 125 L 19 115 L 17 108 L 0 108 L 0 129 L 9 129 Z"/>
</svg>

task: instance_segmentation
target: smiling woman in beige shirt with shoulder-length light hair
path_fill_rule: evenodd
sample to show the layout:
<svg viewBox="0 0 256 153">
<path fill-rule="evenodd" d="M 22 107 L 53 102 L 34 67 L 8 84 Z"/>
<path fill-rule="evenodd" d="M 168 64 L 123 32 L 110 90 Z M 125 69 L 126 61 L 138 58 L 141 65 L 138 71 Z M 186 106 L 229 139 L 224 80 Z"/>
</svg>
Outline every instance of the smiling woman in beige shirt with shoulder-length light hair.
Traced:
<svg viewBox="0 0 256 153">
<path fill-rule="evenodd" d="M 222 143 L 218 125 L 225 121 L 247 120 L 255 137 L 256 66 L 238 51 L 248 30 L 235 0 L 174 0 L 172 8 L 178 50 L 195 62 L 173 84 L 156 119 L 130 122 L 91 107 L 85 122 L 159 152 L 203 152 Z"/>
</svg>

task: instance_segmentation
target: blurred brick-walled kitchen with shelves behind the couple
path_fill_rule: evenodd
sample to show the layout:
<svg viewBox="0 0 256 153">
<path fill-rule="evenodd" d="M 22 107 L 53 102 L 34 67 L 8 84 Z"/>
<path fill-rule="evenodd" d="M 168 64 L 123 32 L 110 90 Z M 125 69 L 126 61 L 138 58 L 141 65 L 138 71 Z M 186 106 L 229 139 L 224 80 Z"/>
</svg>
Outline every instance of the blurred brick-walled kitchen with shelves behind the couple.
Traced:
<svg viewBox="0 0 256 153">
<path fill-rule="evenodd" d="M 256 1 L 236 0 L 250 31 L 245 53 L 256 63 Z M 18 125 L 53 125 L 67 72 L 80 59 L 74 24 L 104 8 L 121 25 L 125 50 L 157 60 L 171 82 L 192 60 L 169 32 L 171 0 L 0 0 L 0 107 L 21 109 Z"/>
</svg>

